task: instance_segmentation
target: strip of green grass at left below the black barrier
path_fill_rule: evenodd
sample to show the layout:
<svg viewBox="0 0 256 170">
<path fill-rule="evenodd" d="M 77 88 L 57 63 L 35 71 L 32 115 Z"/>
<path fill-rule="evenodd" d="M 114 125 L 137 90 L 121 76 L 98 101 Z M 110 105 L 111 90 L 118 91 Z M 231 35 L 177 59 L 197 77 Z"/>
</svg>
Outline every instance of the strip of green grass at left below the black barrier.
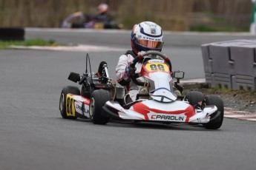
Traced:
<svg viewBox="0 0 256 170">
<path fill-rule="evenodd" d="M 25 41 L 0 41 L 0 49 L 7 49 L 11 46 L 51 46 L 56 47 L 54 40 L 43 40 L 41 38 L 29 39 Z"/>
</svg>

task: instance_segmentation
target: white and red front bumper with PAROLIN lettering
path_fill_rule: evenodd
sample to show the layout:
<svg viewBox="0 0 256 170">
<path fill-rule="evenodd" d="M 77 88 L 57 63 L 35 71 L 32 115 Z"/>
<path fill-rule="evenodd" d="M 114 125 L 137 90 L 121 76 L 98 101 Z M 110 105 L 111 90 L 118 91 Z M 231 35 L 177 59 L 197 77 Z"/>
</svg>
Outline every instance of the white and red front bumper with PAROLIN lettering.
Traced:
<svg viewBox="0 0 256 170">
<path fill-rule="evenodd" d="M 206 106 L 205 109 L 195 109 L 195 115 L 187 119 L 186 109 L 190 106 L 186 101 L 174 101 L 171 103 L 160 103 L 158 101 L 141 101 L 148 108 L 148 113 L 145 115 L 136 112 L 134 107 L 124 109 L 119 103 L 108 101 L 106 106 L 117 110 L 119 118 L 126 120 L 152 120 L 152 121 L 170 121 L 170 122 L 186 122 L 186 123 L 208 123 L 210 115 L 217 111 L 216 106 Z M 146 109 L 145 109 L 146 110 Z M 157 110 L 153 112 L 152 110 Z M 162 112 L 161 112 L 162 111 Z M 180 111 L 178 114 L 175 113 Z"/>
</svg>

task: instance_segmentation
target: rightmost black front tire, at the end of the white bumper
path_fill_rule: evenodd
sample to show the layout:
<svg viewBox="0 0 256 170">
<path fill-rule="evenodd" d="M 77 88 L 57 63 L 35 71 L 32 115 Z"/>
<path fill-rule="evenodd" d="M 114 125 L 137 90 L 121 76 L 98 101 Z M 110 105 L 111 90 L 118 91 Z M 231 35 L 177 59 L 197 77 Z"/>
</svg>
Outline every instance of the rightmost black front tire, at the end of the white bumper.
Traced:
<svg viewBox="0 0 256 170">
<path fill-rule="evenodd" d="M 208 105 L 217 106 L 217 111 L 211 115 L 211 120 L 209 121 L 209 123 L 204 123 L 203 126 L 206 129 L 219 129 L 223 123 L 224 118 L 223 100 L 218 95 L 206 95 L 206 98 L 203 100 L 202 103 L 202 109 L 204 108 L 204 106 Z M 219 112 L 220 115 L 217 115 Z"/>
</svg>

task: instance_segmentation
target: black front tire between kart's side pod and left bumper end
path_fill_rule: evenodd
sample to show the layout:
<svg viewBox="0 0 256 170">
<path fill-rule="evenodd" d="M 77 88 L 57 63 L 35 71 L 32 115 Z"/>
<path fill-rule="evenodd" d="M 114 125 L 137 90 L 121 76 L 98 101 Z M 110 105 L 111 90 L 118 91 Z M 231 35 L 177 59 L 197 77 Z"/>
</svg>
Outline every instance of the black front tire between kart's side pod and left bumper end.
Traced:
<svg viewBox="0 0 256 170">
<path fill-rule="evenodd" d="M 111 95 L 105 89 L 96 89 L 91 94 L 89 113 L 94 124 L 106 124 L 109 118 L 102 117 L 102 106 L 111 99 Z"/>
</svg>

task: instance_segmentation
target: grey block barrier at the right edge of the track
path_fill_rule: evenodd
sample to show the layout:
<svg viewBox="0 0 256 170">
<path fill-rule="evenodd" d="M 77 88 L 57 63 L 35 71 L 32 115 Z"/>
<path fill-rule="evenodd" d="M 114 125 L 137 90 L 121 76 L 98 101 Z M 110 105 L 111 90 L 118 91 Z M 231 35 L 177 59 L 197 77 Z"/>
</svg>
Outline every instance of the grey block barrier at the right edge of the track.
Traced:
<svg viewBox="0 0 256 170">
<path fill-rule="evenodd" d="M 211 87 L 256 90 L 256 40 L 214 42 L 201 50 Z"/>
</svg>

